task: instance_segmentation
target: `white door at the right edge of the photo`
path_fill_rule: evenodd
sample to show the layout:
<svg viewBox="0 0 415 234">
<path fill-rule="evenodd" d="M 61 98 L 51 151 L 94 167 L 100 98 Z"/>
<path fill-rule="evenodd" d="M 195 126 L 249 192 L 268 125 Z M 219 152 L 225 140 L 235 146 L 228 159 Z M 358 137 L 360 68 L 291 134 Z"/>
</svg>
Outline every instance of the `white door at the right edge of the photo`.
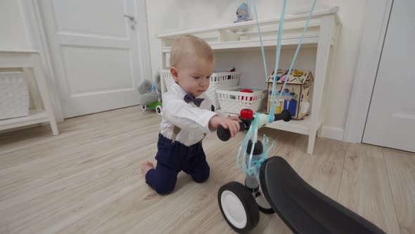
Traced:
<svg viewBox="0 0 415 234">
<path fill-rule="evenodd" d="M 363 142 L 415 152 L 414 0 L 393 1 Z"/>
</svg>

